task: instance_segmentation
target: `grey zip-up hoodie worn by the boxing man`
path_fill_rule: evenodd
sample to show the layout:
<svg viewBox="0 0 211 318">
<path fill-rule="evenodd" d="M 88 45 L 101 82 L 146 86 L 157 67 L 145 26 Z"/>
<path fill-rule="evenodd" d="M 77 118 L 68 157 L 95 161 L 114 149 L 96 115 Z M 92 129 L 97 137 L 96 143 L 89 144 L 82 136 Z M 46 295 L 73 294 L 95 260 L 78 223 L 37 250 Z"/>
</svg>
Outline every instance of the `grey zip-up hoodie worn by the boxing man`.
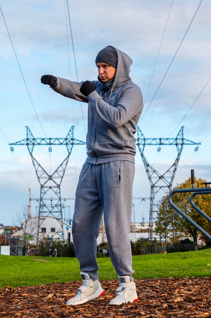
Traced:
<svg viewBox="0 0 211 318">
<path fill-rule="evenodd" d="M 117 160 L 134 163 L 136 125 L 143 108 L 140 88 L 129 76 L 132 59 L 123 51 L 117 53 L 117 67 L 112 87 L 104 93 L 100 81 L 87 97 L 80 92 L 83 82 L 57 77 L 53 88 L 63 96 L 88 103 L 87 158 L 91 164 Z"/>
</svg>

